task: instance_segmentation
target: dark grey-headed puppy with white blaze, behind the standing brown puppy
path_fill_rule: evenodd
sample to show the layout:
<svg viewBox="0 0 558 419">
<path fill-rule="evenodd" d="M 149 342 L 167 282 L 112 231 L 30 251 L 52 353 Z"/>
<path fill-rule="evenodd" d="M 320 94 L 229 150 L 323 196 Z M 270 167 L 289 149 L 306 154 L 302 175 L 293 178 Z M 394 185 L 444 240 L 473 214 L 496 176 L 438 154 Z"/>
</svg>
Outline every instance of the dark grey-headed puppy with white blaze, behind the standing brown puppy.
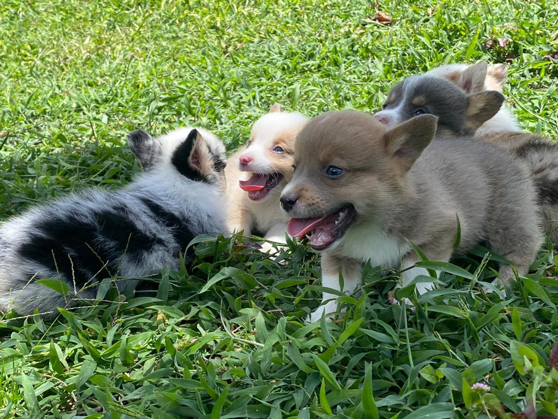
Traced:
<svg viewBox="0 0 558 419">
<path fill-rule="evenodd" d="M 483 81 L 488 78 L 486 64 L 479 62 L 463 72 L 449 74 L 453 76 L 432 77 L 426 73 L 402 80 L 389 92 L 384 110 L 375 117 L 389 127 L 396 121 L 430 113 L 439 118 L 438 136 L 474 134 L 475 140 L 502 147 L 521 159 L 536 185 L 543 229 L 552 242 L 558 243 L 558 145 L 543 136 L 521 132 L 512 122 L 507 128 L 491 122 L 501 113 L 501 108 L 497 109 L 503 96 L 482 91 L 487 84 Z M 465 88 L 475 93 L 466 93 Z"/>
</svg>

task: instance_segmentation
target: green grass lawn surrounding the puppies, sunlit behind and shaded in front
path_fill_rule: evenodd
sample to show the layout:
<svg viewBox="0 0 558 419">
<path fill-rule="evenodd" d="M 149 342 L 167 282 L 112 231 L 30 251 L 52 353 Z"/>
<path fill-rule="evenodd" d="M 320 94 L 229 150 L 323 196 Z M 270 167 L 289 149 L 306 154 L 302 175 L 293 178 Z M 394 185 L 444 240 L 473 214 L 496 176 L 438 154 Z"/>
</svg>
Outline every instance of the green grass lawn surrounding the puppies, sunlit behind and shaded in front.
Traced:
<svg viewBox="0 0 558 419">
<path fill-rule="evenodd" d="M 557 37 L 550 1 L 4 0 L 0 216 L 126 184 L 133 129 L 204 126 L 233 150 L 273 102 L 374 111 L 405 75 L 456 61 L 508 58 L 508 104 L 556 137 L 558 64 L 545 55 Z M 284 265 L 230 240 L 196 252 L 151 296 L 104 283 L 98 304 L 54 321 L 4 317 L 0 417 L 509 417 L 531 395 L 556 415 L 551 248 L 509 298 L 482 292 L 496 266 L 482 251 L 456 260 L 474 279 L 440 272 L 444 289 L 416 313 L 388 304 L 397 278 L 371 268 L 360 296 L 340 298 L 342 320 L 311 326 L 321 288 L 307 247 L 291 244 Z"/>
</svg>

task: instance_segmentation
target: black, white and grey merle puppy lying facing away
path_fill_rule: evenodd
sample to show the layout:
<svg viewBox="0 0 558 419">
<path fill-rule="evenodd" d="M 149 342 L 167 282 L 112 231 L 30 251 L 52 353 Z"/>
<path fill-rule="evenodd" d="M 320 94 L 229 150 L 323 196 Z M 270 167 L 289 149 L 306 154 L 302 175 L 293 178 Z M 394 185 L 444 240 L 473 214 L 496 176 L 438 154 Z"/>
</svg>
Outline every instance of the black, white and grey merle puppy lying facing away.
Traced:
<svg viewBox="0 0 558 419">
<path fill-rule="evenodd" d="M 126 187 L 74 193 L 0 225 L 0 310 L 47 314 L 95 298 L 100 280 L 177 269 L 195 236 L 226 231 L 217 137 L 198 128 L 156 138 L 134 131 L 128 144 L 143 173 Z M 36 283 L 44 278 L 63 280 L 70 293 Z M 136 283 L 117 282 L 121 291 Z"/>
</svg>

